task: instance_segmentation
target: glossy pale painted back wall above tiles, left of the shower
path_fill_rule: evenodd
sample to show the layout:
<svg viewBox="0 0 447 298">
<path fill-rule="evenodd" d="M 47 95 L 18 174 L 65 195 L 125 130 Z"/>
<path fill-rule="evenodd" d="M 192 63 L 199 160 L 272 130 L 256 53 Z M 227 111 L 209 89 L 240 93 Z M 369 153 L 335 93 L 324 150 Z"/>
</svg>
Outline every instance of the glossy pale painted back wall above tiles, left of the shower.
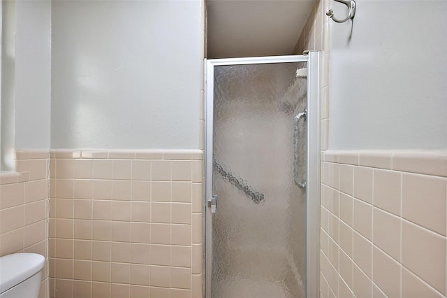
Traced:
<svg viewBox="0 0 447 298">
<path fill-rule="evenodd" d="M 52 148 L 199 148 L 201 1 L 52 1 Z"/>
</svg>

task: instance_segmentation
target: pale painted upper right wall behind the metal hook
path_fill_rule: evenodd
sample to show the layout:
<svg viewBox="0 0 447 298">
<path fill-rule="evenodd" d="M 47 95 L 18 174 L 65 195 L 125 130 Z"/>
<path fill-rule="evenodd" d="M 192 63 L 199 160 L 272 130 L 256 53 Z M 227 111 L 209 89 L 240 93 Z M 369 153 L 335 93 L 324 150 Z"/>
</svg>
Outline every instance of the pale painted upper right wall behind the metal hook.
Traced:
<svg viewBox="0 0 447 298">
<path fill-rule="evenodd" d="M 329 148 L 446 149 L 447 1 L 357 7 L 350 41 L 330 22 Z"/>
</svg>

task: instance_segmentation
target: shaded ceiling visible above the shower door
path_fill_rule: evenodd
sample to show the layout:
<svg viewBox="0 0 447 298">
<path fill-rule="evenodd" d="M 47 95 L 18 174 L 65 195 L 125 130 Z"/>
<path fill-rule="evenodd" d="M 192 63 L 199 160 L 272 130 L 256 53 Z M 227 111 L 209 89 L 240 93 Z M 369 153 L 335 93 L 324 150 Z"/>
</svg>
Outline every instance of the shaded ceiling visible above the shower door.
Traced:
<svg viewBox="0 0 447 298">
<path fill-rule="evenodd" d="M 207 0 L 207 58 L 291 55 L 313 0 Z"/>
</svg>

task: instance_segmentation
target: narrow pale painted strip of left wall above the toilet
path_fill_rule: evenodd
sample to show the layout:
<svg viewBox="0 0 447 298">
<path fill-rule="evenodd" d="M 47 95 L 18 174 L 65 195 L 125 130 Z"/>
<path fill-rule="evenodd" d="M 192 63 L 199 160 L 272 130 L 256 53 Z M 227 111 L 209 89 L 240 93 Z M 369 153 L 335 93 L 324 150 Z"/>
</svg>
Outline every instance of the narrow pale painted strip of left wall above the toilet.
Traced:
<svg viewBox="0 0 447 298">
<path fill-rule="evenodd" d="M 15 1 L 15 148 L 50 148 L 51 1 Z"/>
</svg>

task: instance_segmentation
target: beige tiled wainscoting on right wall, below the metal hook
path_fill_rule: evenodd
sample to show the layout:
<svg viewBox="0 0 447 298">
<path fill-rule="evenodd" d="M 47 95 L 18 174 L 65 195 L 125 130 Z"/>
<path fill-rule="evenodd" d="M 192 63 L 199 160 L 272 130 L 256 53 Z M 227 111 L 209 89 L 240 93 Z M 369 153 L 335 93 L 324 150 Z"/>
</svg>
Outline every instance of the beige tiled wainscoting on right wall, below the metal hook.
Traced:
<svg viewBox="0 0 447 298">
<path fill-rule="evenodd" d="M 322 160 L 321 297 L 445 297 L 446 152 Z"/>
</svg>

